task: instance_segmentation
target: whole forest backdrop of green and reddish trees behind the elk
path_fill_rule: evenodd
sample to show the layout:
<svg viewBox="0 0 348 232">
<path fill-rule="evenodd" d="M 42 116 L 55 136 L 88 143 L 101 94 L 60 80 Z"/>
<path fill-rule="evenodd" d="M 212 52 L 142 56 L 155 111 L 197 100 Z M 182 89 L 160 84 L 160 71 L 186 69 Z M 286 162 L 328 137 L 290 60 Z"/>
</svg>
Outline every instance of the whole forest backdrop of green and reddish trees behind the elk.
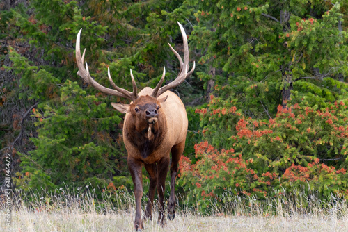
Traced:
<svg viewBox="0 0 348 232">
<path fill-rule="evenodd" d="M 74 42 L 83 28 L 102 85 L 109 67 L 122 88 L 129 69 L 154 88 L 163 65 L 166 83 L 179 71 L 167 44 L 182 52 L 178 21 L 197 64 L 172 90 L 189 117 L 183 199 L 348 197 L 347 1 L 6 0 L 0 10 L 0 165 L 10 153 L 13 188 L 132 188 L 124 115 L 110 107 L 127 102 L 77 76 Z"/>
</svg>

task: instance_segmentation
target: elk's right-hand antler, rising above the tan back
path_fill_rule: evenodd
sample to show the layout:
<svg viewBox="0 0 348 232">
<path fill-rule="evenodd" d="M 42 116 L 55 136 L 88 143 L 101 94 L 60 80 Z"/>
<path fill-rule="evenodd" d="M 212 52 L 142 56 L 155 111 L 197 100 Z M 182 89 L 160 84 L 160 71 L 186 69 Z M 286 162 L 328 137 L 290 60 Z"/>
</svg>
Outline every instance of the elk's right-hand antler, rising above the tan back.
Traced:
<svg viewBox="0 0 348 232">
<path fill-rule="evenodd" d="M 187 72 L 187 70 L 189 69 L 189 45 L 187 44 L 187 36 L 186 36 L 185 30 L 184 30 L 184 27 L 182 26 L 182 24 L 180 24 L 180 22 L 177 22 L 177 24 L 179 24 L 179 26 L 180 26 L 180 31 L 182 34 L 182 40 L 183 40 L 183 44 L 184 44 L 184 62 L 182 62 L 182 58 L 180 57 L 179 53 L 177 53 L 177 51 L 175 51 L 175 49 L 173 49 L 173 47 L 171 47 L 171 44 L 168 43 L 169 47 L 171 47 L 171 50 L 173 51 L 173 53 L 175 54 L 175 56 L 179 60 L 180 71 L 179 71 L 179 74 L 177 75 L 177 78 L 175 78 L 174 81 L 172 81 L 168 85 L 164 85 L 163 87 L 161 87 L 161 85 L 164 81 L 164 76 L 165 76 L 165 69 L 164 69 L 164 74 L 162 75 L 161 80 L 159 80 L 159 83 L 156 85 L 156 88 L 152 91 L 152 94 L 151 94 L 152 97 L 157 98 L 159 95 L 163 94 L 167 90 L 170 90 L 172 88 L 177 87 L 177 85 L 180 85 L 182 82 L 185 81 L 185 79 L 188 76 L 190 76 L 193 73 L 193 71 L 196 67 L 196 63 L 193 62 L 193 67 L 192 67 L 191 71 Z"/>
</svg>

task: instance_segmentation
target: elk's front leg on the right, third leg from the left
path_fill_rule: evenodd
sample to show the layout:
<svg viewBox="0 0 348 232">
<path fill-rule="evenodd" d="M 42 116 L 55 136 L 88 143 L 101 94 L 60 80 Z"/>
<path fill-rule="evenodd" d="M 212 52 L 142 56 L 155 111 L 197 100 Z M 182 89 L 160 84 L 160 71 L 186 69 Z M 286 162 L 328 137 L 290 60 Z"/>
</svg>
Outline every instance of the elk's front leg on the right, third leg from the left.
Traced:
<svg viewBox="0 0 348 232">
<path fill-rule="evenodd" d="M 168 154 L 169 155 L 169 154 Z M 169 156 L 165 156 L 159 160 L 157 164 L 157 194 L 159 198 L 159 216 L 158 223 L 161 226 L 166 224 L 166 215 L 164 212 L 164 191 L 166 190 L 166 176 L 169 167 Z"/>
</svg>

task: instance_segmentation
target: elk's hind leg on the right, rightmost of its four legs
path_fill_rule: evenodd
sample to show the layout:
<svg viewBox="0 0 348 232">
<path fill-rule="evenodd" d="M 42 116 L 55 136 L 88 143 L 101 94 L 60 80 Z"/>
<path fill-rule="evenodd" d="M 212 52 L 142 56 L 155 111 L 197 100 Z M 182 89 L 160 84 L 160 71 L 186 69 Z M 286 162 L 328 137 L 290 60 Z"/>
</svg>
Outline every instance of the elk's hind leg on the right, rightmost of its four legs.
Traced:
<svg viewBox="0 0 348 232">
<path fill-rule="evenodd" d="M 176 174 L 177 174 L 177 164 L 179 163 L 179 160 L 182 156 L 182 152 L 184 152 L 185 148 L 185 140 L 181 142 L 180 144 L 175 145 L 171 149 L 172 153 L 172 163 L 171 163 L 171 197 L 169 198 L 169 204 L 168 204 L 168 218 L 172 221 L 175 218 L 175 208 L 176 208 L 176 201 L 175 201 L 175 180 L 176 180 Z"/>
</svg>

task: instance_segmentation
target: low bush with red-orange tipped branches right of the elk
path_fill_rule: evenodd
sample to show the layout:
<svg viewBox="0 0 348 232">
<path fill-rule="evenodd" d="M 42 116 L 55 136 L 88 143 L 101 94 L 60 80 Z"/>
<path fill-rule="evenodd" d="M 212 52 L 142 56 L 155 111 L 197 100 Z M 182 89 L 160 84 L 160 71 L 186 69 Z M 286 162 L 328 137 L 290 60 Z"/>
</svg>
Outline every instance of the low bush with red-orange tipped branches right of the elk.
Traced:
<svg viewBox="0 0 348 232">
<path fill-rule="evenodd" d="M 193 160 L 180 160 L 179 183 L 198 202 L 219 201 L 226 191 L 262 198 L 300 187 L 348 197 L 347 108 L 343 101 L 331 105 L 279 106 L 276 117 L 265 121 L 212 99 L 196 112 L 206 142 L 196 144 Z"/>
</svg>

